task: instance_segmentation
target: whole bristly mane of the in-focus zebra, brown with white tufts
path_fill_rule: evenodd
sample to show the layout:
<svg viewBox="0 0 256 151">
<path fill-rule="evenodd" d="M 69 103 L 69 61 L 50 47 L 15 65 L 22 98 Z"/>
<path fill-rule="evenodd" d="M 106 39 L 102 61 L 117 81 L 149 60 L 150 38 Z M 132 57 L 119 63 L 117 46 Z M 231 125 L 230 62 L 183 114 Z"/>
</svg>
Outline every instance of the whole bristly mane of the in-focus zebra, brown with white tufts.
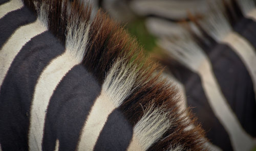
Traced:
<svg viewBox="0 0 256 151">
<path fill-rule="evenodd" d="M 24 3 L 94 75 L 133 125 L 143 150 L 207 150 L 200 125 L 189 110 L 180 109 L 176 87 L 106 13 L 93 16 L 90 5 L 78 0 Z"/>
</svg>

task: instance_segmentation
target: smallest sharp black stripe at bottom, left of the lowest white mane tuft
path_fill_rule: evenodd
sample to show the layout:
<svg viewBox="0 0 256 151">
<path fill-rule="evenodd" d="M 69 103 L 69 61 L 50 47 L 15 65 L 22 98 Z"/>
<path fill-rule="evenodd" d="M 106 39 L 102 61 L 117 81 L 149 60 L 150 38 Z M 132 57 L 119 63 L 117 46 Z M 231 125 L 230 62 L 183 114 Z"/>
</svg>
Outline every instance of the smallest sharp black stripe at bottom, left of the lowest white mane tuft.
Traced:
<svg viewBox="0 0 256 151">
<path fill-rule="evenodd" d="M 133 137 L 132 125 L 116 109 L 108 117 L 94 150 L 126 150 Z"/>
</svg>

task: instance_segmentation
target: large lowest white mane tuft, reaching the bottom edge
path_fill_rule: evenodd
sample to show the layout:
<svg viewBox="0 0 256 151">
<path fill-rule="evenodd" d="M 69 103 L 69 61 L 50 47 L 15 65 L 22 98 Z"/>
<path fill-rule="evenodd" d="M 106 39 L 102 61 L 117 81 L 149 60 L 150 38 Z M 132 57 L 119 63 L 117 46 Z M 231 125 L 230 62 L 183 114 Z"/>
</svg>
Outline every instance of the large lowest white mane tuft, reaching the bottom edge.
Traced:
<svg viewBox="0 0 256 151">
<path fill-rule="evenodd" d="M 148 107 L 133 129 L 127 150 L 146 150 L 171 127 L 168 112 L 163 108 Z"/>
</svg>

